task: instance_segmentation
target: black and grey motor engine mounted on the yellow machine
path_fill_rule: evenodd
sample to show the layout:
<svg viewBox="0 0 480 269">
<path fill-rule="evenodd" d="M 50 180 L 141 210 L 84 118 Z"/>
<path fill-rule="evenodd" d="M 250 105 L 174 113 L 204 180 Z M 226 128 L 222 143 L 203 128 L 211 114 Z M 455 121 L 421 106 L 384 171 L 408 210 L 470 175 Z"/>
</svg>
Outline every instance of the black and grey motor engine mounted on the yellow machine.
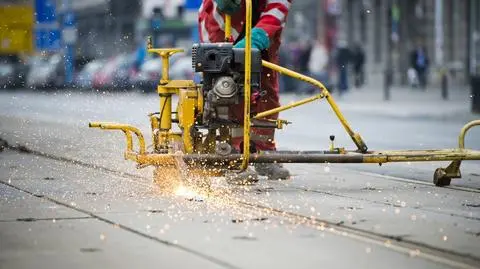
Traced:
<svg viewBox="0 0 480 269">
<path fill-rule="evenodd" d="M 194 44 L 192 65 L 195 72 L 203 75 L 203 125 L 235 125 L 234 122 L 228 124 L 228 108 L 243 100 L 245 50 L 233 48 L 231 43 Z M 251 70 L 251 89 L 255 96 L 260 89 L 262 70 L 261 53 L 256 49 L 252 49 Z"/>
</svg>

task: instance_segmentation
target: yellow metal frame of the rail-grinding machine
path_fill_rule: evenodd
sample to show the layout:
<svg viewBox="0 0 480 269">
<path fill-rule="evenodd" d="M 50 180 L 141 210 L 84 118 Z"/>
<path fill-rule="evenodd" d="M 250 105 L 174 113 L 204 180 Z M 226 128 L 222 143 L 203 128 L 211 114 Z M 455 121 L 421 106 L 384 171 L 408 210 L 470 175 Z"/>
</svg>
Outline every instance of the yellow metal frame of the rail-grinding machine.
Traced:
<svg viewBox="0 0 480 269">
<path fill-rule="evenodd" d="M 262 65 L 271 70 L 277 71 L 283 75 L 310 83 L 320 89 L 320 93 L 295 103 L 280 106 L 275 109 L 256 114 L 254 117 L 250 113 L 250 95 L 251 95 L 251 29 L 252 29 L 252 3 L 246 0 L 246 26 L 245 26 L 245 93 L 244 93 L 244 123 L 243 123 L 243 153 L 230 154 L 227 156 L 214 154 L 216 141 L 215 133 L 208 133 L 206 137 L 198 137 L 192 134 L 191 128 L 195 124 L 196 113 L 202 113 L 203 95 L 201 85 L 197 85 L 192 80 L 170 80 L 169 78 L 169 58 L 175 53 L 182 52 L 181 49 L 154 49 L 149 40 L 148 51 L 156 53 L 162 58 L 162 77 L 158 86 L 160 97 L 160 112 L 150 114 L 150 123 L 152 128 L 152 138 L 154 152 L 149 153 L 146 150 L 145 139 L 138 128 L 126 124 L 91 122 L 90 127 L 101 128 L 105 130 L 123 131 L 127 140 L 127 149 L 125 158 L 137 162 L 140 166 L 163 166 L 175 165 L 178 158 L 182 158 L 188 164 L 237 167 L 244 170 L 250 163 L 377 163 L 388 162 L 430 162 L 430 161 L 452 161 L 447 168 L 438 168 L 434 173 L 434 183 L 437 186 L 450 184 L 450 179 L 461 177 L 460 164 L 462 160 L 480 160 L 480 151 L 465 148 L 465 135 L 473 126 L 480 125 L 480 120 L 472 121 L 466 124 L 459 135 L 458 148 L 441 150 L 405 150 L 405 151 L 369 151 L 360 134 L 355 133 L 350 127 L 346 118 L 343 116 L 338 105 L 333 99 L 327 88 L 320 82 L 311 77 L 299 74 L 287 68 L 276 64 L 262 61 Z M 231 33 L 231 18 L 225 19 L 225 37 L 229 39 Z M 177 95 L 177 111 L 172 111 L 172 97 Z M 250 136 L 252 120 L 262 120 L 267 116 L 276 114 L 294 107 L 298 107 L 319 99 L 325 98 L 332 108 L 333 112 L 345 128 L 348 135 L 352 138 L 357 149 L 355 151 L 346 151 L 343 148 L 335 148 L 333 145 L 328 151 L 299 152 L 283 151 L 275 153 L 250 153 Z M 176 115 L 174 118 L 173 115 Z M 172 131 L 172 122 L 178 122 L 181 132 Z M 287 122 L 284 120 L 275 120 L 278 129 L 281 129 Z M 139 150 L 133 149 L 133 136 L 136 135 Z M 221 136 L 228 139 L 225 133 Z"/>
</svg>

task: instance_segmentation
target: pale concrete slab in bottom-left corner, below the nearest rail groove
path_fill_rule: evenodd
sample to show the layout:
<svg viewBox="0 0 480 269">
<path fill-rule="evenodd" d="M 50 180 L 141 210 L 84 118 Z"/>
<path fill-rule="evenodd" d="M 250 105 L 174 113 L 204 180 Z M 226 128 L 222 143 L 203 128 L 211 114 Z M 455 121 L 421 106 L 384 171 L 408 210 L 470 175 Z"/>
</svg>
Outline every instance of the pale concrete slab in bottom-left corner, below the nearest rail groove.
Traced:
<svg viewBox="0 0 480 269">
<path fill-rule="evenodd" d="M 0 223 L 0 268 L 228 268 L 98 220 Z"/>
</svg>

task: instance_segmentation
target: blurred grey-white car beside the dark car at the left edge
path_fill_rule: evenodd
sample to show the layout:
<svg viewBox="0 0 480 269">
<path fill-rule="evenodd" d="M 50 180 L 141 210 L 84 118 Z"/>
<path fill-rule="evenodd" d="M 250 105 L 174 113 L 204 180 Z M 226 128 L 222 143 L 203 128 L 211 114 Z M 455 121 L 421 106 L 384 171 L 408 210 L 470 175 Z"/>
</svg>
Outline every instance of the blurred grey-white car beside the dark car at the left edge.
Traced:
<svg viewBox="0 0 480 269">
<path fill-rule="evenodd" d="M 29 88 L 61 88 L 65 86 L 65 66 L 61 54 L 34 56 L 30 63 L 26 86 Z"/>
</svg>

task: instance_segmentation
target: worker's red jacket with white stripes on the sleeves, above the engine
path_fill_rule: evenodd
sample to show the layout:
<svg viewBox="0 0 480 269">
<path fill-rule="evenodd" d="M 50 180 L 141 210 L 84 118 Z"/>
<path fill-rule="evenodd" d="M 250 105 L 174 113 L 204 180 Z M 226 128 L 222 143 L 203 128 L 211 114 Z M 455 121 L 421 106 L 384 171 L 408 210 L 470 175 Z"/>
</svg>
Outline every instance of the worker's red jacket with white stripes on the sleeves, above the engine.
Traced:
<svg viewBox="0 0 480 269">
<path fill-rule="evenodd" d="M 268 49 L 270 60 L 277 56 L 280 46 L 280 36 L 285 26 L 291 0 L 259 0 L 257 8 L 260 18 L 253 27 L 262 28 L 270 38 Z M 236 40 L 243 30 L 245 21 L 245 3 L 242 8 L 232 15 L 232 38 Z M 203 0 L 199 9 L 198 27 L 201 42 L 223 42 L 225 40 L 225 15 L 217 10 L 214 0 Z"/>
</svg>

